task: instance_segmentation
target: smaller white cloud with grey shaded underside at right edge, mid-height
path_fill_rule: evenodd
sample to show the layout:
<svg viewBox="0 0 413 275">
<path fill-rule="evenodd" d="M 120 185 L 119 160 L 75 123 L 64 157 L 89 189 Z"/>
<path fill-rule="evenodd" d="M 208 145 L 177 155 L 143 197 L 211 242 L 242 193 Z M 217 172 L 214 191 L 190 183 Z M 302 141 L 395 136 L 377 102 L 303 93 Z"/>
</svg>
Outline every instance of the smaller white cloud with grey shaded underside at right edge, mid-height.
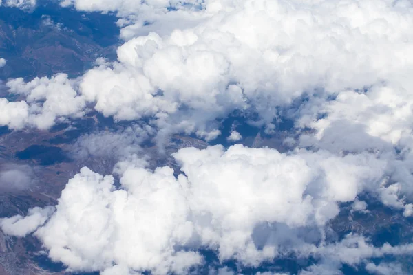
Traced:
<svg viewBox="0 0 413 275">
<path fill-rule="evenodd" d="M 304 113 L 301 126 L 317 130 L 317 142 L 324 147 L 331 147 L 333 140 L 335 148 L 349 151 L 383 150 L 386 144 L 399 144 L 412 131 L 409 120 L 413 117 L 413 98 L 408 88 L 411 84 L 410 80 L 403 80 L 374 85 L 366 92 L 340 91 L 335 100 L 311 105 L 313 110 L 309 113 L 313 118 Z M 324 113 L 324 118 L 316 120 L 319 113 Z M 348 133 L 343 135 L 342 131 Z"/>
</svg>

